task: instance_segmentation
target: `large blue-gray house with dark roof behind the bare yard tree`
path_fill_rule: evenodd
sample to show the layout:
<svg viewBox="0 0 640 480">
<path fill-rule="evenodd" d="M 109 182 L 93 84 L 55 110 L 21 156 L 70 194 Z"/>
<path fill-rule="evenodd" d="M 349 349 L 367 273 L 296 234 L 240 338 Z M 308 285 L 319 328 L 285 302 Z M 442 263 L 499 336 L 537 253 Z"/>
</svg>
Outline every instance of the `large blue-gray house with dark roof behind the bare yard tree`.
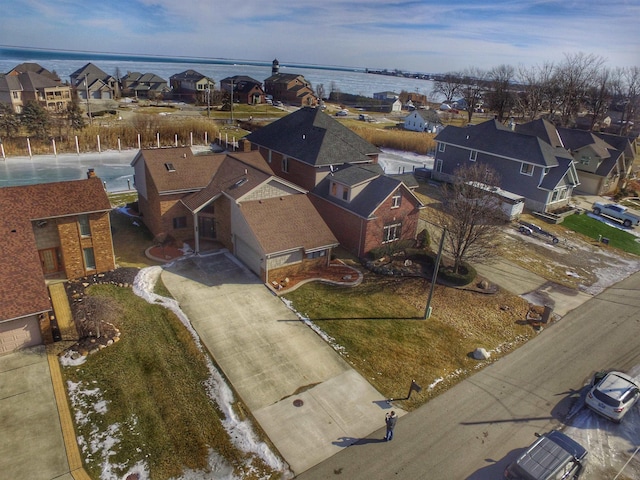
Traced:
<svg viewBox="0 0 640 480">
<path fill-rule="evenodd" d="M 447 126 L 435 138 L 433 178 L 450 181 L 465 163 L 479 162 L 496 170 L 500 188 L 524 197 L 531 210 L 547 212 L 568 204 L 580 184 L 573 157 L 552 136 L 545 140 L 524 131 L 497 120 Z"/>
</svg>

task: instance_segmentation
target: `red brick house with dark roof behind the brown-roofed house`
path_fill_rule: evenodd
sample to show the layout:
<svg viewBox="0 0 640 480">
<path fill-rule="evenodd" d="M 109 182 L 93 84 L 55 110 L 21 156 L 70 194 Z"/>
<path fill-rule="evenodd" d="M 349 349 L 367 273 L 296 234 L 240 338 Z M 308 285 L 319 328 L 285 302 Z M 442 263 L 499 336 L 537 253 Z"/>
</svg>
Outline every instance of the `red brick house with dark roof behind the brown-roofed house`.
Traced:
<svg viewBox="0 0 640 480">
<path fill-rule="evenodd" d="M 358 256 L 415 239 L 420 200 L 385 175 L 379 150 L 319 109 L 305 107 L 245 137 L 273 172 L 310 191 L 340 244 Z"/>
</svg>

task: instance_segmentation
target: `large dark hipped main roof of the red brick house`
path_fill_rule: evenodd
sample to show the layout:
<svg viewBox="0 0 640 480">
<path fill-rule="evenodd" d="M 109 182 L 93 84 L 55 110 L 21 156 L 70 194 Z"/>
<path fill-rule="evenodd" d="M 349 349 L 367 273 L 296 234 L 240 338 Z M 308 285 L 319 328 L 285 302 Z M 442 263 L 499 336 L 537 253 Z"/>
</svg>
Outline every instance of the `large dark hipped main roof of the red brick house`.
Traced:
<svg viewBox="0 0 640 480">
<path fill-rule="evenodd" d="M 379 150 L 320 109 L 303 107 L 245 137 L 312 166 L 370 163 Z"/>
</svg>

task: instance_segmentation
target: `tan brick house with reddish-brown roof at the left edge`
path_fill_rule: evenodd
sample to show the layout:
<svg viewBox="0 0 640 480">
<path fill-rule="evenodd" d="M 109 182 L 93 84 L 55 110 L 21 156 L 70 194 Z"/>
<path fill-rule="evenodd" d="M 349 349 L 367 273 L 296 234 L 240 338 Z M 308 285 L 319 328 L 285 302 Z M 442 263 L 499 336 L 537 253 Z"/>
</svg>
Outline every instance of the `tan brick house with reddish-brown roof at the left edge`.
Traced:
<svg viewBox="0 0 640 480">
<path fill-rule="evenodd" d="M 0 188 L 0 355 L 42 343 L 48 279 L 115 268 L 110 210 L 96 177 Z"/>
</svg>

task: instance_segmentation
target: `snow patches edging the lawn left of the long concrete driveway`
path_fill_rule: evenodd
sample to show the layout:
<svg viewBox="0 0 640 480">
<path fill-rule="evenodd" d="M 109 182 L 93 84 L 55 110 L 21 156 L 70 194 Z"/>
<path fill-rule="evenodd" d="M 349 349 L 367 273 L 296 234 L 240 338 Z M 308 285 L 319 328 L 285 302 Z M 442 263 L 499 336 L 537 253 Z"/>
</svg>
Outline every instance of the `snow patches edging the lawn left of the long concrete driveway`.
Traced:
<svg viewBox="0 0 640 480">
<path fill-rule="evenodd" d="M 198 348 L 204 351 L 198 334 L 191 326 L 189 319 L 180 309 L 178 302 L 173 299 L 162 297 L 153 293 L 154 286 L 160 277 L 162 268 L 159 266 L 147 267 L 138 273 L 133 285 L 133 292 L 139 297 L 145 299 L 149 303 L 159 304 L 168 308 L 180 319 L 183 325 L 189 330 L 194 338 Z M 220 410 L 224 414 L 222 424 L 229 435 L 233 444 L 241 451 L 249 454 L 249 460 L 244 465 L 244 474 L 258 475 L 256 469 L 252 466 L 251 457 L 259 457 L 272 470 L 282 472 L 283 478 L 291 476 L 288 466 L 275 455 L 269 446 L 260 440 L 256 435 L 253 425 L 248 420 L 242 420 L 238 417 L 233 404 L 236 402 L 233 392 L 225 383 L 222 375 L 215 368 L 208 356 L 207 365 L 209 368 L 209 380 L 206 388 L 209 397 L 216 402 Z M 84 361 L 85 357 L 73 360 L 70 357 L 61 358 L 63 365 L 79 365 Z M 75 412 L 75 419 L 79 425 L 92 422 L 92 418 L 96 415 L 104 414 L 109 408 L 107 402 L 102 398 L 99 388 L 89 387 L 80 383 L 68 382 L 69 398 Z M 93 421 L 96 425 L 97 421 Z M 91 438 L 78 437 L 78 444 L 82 449 L 85 458 L 98 457 L 102 464 L 101 479 L 103 480 L 119 480 L 121 478 L 129 478 L 129 475 L 137 474 L 139 480 L 150 480 L 149 472 L 143 461 L 129 467 L 129 470 L 121 477 L 114 472 L 115 468 L 120 470 L 127 468 L 126 465 L 114 465 L 110 462 L 110 457 L 115 454 L 114 450 L 118 448 L 120 443 L 120 429 L 133 428 L 137 420 L 129 419 L 125 425 L 110 425 L 106 430 L 100 431 L 97 427 L 91 432 Z M 233 474 L 233 466 L 230 465 L 223 457 L 211 450 L 209 452 L 209 468 L 210 471 L 194 471 L 186 470 L 175 480 L 206 480 L 216 478 L 217 480 L 240 480 Z M 257 477 L 256 477 L 257 478 Z"/>
</svg>

